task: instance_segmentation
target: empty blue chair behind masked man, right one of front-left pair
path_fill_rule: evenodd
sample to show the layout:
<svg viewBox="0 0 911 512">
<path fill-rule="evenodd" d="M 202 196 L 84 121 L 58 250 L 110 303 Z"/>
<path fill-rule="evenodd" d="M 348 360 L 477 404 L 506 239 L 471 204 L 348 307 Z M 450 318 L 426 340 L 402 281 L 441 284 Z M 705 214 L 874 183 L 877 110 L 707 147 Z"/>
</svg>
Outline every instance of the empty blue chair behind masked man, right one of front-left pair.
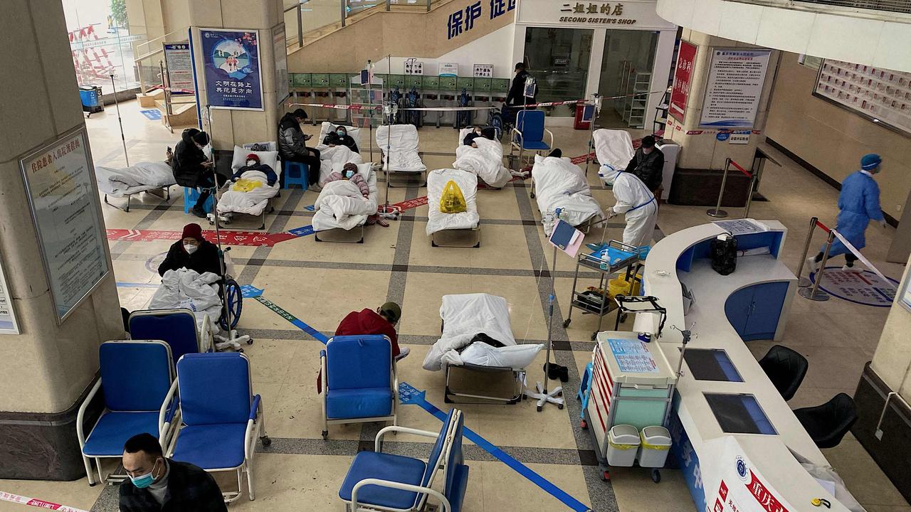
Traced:
<svg viewBox="0 0 911 512">
<path fill-rule="evenodd" d="M 242 353 L 188 353 L 177 362 L 177 383 L 179 425 L 165 454 L 210 473 L 236 471 L 237 491 L 222 493 L 226 502 L 241 497 L 246 474 L 254 499 L 256 438 L 263 446 L 271 439 L 260 395 L 252 392 L 250 360 Z"/>
</svg>

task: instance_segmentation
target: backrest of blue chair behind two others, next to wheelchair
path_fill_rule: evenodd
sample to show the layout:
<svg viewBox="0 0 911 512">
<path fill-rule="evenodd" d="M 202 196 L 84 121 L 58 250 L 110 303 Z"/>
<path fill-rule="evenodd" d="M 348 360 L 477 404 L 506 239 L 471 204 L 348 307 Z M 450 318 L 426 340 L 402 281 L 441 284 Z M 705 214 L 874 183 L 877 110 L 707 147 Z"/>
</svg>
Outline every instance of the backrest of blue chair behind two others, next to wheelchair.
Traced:
<svg viewBox="0 0 911 512">
<path fill-rule="evenodd" d="M 203 347 L 196 316 L 189 310 L 143 310 L 129 315 L 129 335 L 134 340 L 161 340 L 170 345 L 177 363 L 185 353 L 211 351 Z"/>
</svg>

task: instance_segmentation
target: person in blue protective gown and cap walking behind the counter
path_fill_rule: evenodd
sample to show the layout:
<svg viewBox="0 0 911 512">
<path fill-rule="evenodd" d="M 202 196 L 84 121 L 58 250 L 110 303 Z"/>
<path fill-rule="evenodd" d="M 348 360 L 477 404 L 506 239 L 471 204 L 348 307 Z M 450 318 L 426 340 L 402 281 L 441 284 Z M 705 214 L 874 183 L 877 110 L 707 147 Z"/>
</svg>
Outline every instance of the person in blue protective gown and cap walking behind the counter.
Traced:
<svg viewBox="0 0 911 512">
<path fill-rule="evenodd" d="M 879 155 L 864 155 L 860 160 L 860 170 L 855 171 L 842 183 L 842 191 L 838 194 L 838 220 L 835 230 L 844 236 L 855 249 L 863 249 L 866 245 L 864 231 L 870 220 L 879 222 L 885 228 L 885 216 L 879 206 L 879 185 L 873 178 L 879 174 L 883 159 Z M 861 271 L 855 268 L 857 256 L 844 246 L 842 241 L 835 239 L 829 258 L 844 254 L 845 271 Z M 810 271 L 819 270 L 820 261 L 823 261 L 823 252 L 820 251 L 809 259 Z"/>
</svg>

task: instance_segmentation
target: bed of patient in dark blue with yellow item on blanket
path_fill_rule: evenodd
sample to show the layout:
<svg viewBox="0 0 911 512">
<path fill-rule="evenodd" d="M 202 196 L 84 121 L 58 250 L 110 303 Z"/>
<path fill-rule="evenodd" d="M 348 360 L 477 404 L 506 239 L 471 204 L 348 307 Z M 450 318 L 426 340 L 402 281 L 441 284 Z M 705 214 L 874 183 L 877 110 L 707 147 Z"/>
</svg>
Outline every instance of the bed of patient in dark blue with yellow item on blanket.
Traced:
<svg viewBox="0 0 911 512">
<path fill-rule="evenodd" d="M 274 201 L 281 196 L 281 165 L 278 162 L 278 151 L 253 151 L 249 148 L 235 146 L 230 164 L 231 174 L 246 165 L 247 155 L 251 153 L 260 158 L 261 164 L 271 167 L 278 179 L 269 186 L 265 174 L 251 170 L 243 173 L 241 179 L 259 181 L 261 183 L 259 187 L 244 191 L 238 183 L 230 181 L 225 183 L 225 186 L 219 190 L 219 200 L 216 206 L 220 226 L 251 218 L 252 225 L 243 227 L 265 230 L 266 214 L 275 210 Z"/>
</svg>

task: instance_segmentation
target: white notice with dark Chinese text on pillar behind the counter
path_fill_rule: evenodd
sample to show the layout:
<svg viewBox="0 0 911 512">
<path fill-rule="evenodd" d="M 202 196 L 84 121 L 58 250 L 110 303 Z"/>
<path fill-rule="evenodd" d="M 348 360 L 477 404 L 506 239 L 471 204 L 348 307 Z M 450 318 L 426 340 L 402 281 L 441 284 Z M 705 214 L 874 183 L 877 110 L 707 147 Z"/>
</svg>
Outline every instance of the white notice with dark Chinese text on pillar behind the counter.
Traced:
<svg viewBox="0 0 911 512">
<path fill-rule="evenodd" d="M 712 48 L 700 126 L 752 128 L 772 50 Z"/>
</svg>

